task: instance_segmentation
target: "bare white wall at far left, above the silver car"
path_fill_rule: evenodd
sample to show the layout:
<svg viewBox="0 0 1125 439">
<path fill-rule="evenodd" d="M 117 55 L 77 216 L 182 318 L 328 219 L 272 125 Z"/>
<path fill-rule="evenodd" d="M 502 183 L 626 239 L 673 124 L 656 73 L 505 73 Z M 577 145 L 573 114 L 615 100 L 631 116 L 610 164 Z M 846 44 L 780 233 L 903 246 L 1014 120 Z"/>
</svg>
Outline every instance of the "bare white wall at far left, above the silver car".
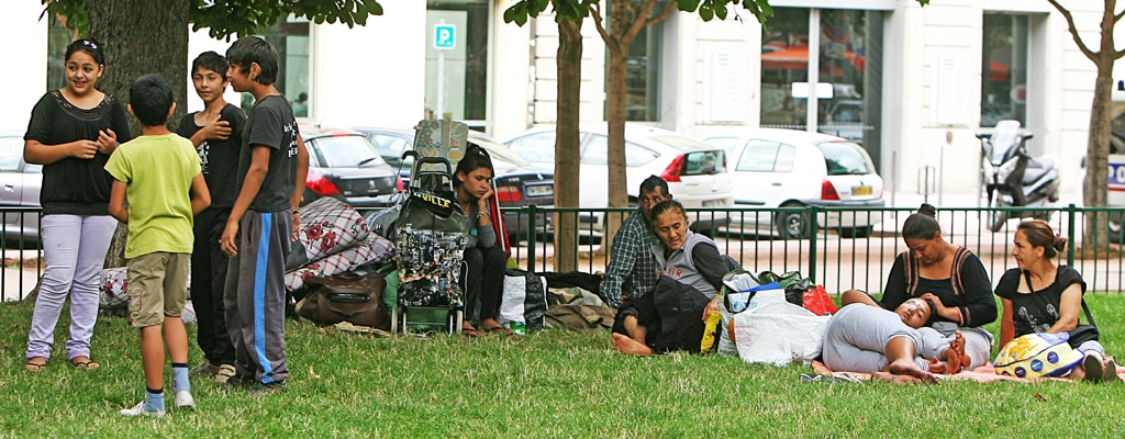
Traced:
<svg viewBox="0 0 1125 439">
<path fill-rule="evenodd" d="M 39 20 L 37 1 L 8 1 L 0 13 L 0 53 L 9 63 L 0 68 L 0 129 L 27 129 L 32 108 L 47 90 L 47 20 Z"/>
</svg>

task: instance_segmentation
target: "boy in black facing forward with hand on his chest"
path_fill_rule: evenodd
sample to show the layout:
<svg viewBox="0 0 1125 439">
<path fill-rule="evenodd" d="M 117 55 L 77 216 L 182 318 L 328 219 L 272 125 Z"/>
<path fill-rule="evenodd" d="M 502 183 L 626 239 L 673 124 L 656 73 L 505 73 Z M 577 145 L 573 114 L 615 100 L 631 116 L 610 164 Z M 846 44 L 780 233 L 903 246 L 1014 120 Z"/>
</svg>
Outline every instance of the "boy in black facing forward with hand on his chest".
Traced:
<svg viewBox="0 0 1125 439">
<path fill-rule="evenodd" d="M 236 176 L 242 130 L 246 116 L 226 103 L 226 71 L 230 64 L 215 52 L 205 52 L 191 63 L 191 83 L 204 101 L 204 110 L 184 115 L 176 134 L 191 140 L 199 153 L 204 180 L 210 190 L 212 204 L 195 218 L 195 247 L 191 250 L 191 301 L 199 324 L 196 340 L 204 359 L 192 375 L 214 376 L 218 383 L 234 375 L 234 346 L 226 330 L 223 290 L 230 258 L 218 240 L 238 196 Z"/>
</svg>

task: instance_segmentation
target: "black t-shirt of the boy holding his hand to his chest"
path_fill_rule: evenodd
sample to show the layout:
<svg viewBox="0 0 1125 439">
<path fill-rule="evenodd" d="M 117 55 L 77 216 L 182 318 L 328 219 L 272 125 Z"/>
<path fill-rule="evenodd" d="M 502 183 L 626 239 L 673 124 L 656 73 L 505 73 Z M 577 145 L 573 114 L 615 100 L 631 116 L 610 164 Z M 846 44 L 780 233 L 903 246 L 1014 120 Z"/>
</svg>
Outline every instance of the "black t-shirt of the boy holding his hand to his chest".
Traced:
<svg viewBox="0 0 1125 439">
<path fill-rule="evenodd" d="M 231 124 L 231 137 L 226 140 L 204 140 L 196 147 L 199 167 L 212 195 L 212 208 L 231 208 L 238 198 L 238 152 L 242 149 L 242 134 L 246 128 L 246 116 L 242 109 L 227 103 L 219 110 L 218 120 Z M 196 125 L 196 113 L 184 115 L 176 134 L 191 138 L 202 127 Z"/>
</svg>

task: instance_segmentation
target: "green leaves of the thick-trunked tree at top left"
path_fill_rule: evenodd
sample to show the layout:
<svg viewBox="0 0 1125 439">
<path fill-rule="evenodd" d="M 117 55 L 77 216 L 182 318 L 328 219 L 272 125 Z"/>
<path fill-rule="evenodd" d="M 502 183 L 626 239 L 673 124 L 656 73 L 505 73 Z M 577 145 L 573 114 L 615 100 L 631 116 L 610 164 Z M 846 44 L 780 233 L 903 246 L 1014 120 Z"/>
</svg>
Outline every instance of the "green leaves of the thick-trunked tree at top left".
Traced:
<svg viewBox="0 0 1125 439">
<path fill-rule="evenodd" d="M 69 17 L 66 27 L 80 34 L 88 25 L 90 0 L 44 0 L 44 13 Z M 190 0 L 188 21 L 192 30 L 208 28 L 213 38 L 260 34 L 279 18 L 304 17 L 316 24 L 341 22 L 353 27 L 367 24 L 369 16 L 381 16 L 376 0 Z M 546 1 L 546 0 L 542 0 Z"/>
</svg>

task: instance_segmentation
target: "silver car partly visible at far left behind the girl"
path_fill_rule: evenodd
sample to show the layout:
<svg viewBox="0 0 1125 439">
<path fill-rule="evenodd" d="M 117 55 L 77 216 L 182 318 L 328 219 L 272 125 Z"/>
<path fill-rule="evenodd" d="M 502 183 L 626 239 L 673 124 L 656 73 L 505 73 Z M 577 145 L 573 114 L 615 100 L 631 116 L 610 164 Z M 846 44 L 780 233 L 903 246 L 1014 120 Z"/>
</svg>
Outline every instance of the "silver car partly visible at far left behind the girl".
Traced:
<svg viewBox="0 0 1125 439">
<path fill-rule="evenodd" d="M 0 205 L 4 208 L 38 208 L 43 186 L 43 165 L 24 162 L 24 131 L 0 131 Z M 6 238 L 39 239 L 39 213 L 4 212 L 2 235 Z"/>
</svg>

